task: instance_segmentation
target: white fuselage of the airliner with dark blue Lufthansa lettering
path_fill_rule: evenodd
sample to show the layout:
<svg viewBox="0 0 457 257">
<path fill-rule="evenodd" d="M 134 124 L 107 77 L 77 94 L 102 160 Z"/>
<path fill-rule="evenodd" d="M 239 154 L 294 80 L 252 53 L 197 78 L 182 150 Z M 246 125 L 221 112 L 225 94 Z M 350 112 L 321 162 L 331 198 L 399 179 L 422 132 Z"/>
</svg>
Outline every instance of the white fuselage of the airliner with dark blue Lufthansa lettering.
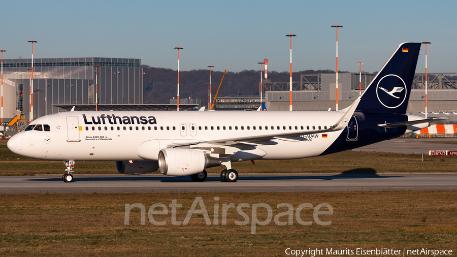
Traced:
<svg viewBox="0 0 457 257">
<path fill-rule="evenodd" d="M 10 149 L 23 156 L 50 160 L 143 160 L 139 156 L 142 155 L 139 154 L 139 147 L 151 140 L 158 143 L 155 144 L 157 147 L 150 149 L 149 156 L 157 156 L 160 149 L 171 144 L 324 130 L 335 124 L 343 113 L 344 111 L 63 112 L 34 120 L 30 124 L 49 125 L 50 131 L 21 132 L 10 139 L 14 142 L 10 142 L 9 147 L 14 146 Z M 254 153 L 245 158 L 294 159 L 317 156 L 342 132 L 343 130 L 306 135 L 301 140 L 279 138 L 256 142 L 252 149 L 244 147 L 247 152 Z M 232 161 L 245 158 L 238 156 L 232 158 Z"/>
</svg>

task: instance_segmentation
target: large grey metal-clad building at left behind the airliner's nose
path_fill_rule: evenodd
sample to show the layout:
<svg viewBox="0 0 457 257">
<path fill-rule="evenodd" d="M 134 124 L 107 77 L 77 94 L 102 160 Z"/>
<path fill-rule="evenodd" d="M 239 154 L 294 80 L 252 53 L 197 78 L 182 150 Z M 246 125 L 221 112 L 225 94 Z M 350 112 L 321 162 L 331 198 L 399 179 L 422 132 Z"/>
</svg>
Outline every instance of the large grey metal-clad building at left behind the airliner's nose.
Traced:
<svg viewBox="0 0 457 257">
<path fill-rule="evenodd" d="M 95 67 L 99 104 L 141 104 L 140 59 L 34 58 L 34 119 L 59 111 L 52 105 L 95 104 Z M 31 59 L 4 59 L 4 118 L 20 108 L 29 119 Z M 20 91 L 22 88 L 22 91 Z M 5 90 L 7 89 L 7 90 Z"/>
</svg>

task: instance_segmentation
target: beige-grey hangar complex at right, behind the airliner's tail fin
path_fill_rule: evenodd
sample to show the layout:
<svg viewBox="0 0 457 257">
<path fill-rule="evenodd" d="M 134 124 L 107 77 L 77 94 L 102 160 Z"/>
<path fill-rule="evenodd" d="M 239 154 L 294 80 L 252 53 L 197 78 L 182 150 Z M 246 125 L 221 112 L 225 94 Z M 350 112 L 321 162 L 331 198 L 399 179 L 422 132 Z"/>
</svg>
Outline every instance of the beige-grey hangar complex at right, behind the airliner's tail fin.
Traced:
<svg viewBox="0 0 457 257">
<path fill-rule="evenodd" d="M 339 73 L 338 104 L 340 109 L 350 106 L 370 84 L 376 74 Z M 428 111 L 443 116 L 451 114 L 457 121 L 457 73 L 428 74 Z M 302 74 L 300 81 L 293 81 L 292 110 L 328 111 L 335 110 L 336 74 Z M 414 75 L 407 112 L 425 116 L 425 74 Z M 361 88 L 360 88 L 361 87 Z M 260 83 L 259 83 L 260 88 Z M 264 101 L 269 111 L 289 110 L 289 83 L 263 79 Z M 222 97 L 216 99 L 215 110 L 257 110 L 260 96 Z"/>
</svg>

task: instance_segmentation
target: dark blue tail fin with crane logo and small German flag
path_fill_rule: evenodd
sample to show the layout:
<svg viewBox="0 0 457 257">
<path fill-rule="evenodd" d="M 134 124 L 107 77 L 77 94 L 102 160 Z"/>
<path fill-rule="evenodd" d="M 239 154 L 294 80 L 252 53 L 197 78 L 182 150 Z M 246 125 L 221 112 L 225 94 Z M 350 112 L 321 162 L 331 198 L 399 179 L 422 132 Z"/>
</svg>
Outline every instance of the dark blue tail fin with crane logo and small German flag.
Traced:
<svg viewBox="0 0 457 257">
<path fill-rule="evenodd" d="M 420 43 L 403 43 L 361 96 L 356 112 L 405 114 Z"/>
</svg>

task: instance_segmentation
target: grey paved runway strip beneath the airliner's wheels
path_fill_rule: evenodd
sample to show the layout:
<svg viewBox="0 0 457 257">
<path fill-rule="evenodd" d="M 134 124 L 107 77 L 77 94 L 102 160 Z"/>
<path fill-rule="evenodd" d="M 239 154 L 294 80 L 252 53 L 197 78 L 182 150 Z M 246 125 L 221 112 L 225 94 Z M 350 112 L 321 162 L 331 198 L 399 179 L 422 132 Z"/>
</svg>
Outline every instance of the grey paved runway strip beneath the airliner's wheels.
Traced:
<svg viewBox="0 0 457 257">
<path fill-rule="evenodd" d="M 205 182 L 163 175 L 61 175 L 0 177 L 0 194 L 89 194 L 117 192 L 247 192 L 247 191 L 384 191 L 456 190 L 457 174 L 240 174 L 235 183 L 209 175 Z"/>
</svg>

